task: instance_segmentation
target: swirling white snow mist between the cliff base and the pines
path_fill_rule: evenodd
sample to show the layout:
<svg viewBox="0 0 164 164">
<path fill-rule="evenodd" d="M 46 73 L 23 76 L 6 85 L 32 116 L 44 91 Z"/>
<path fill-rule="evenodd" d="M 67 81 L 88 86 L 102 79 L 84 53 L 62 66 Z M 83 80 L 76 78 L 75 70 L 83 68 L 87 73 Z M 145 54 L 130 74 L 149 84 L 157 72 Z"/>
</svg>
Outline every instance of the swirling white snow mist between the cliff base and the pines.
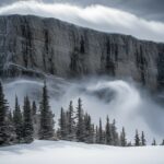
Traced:
<svg viewBox="0 0 164 164">
<path fill-rule="evenodd" d="M 153 138 L 156 138 L 159 142 L 163 139 L 163 108 L 156 105 L 148 94 L 140 92 L 133 82 L 106 78 L 90 78 L 73 82 L 48 79 L 47 85 L 56 120 L 58 120 L 61 106 L 68 109 L 69 102 L 73 101 L 75 109 L 78 98 L 81 97 L 84 110 L 91 114 L 95 124 L 98 124 L 101 117 L 105 125 L 108 115 L 110 121 L 116 119 L 118 130 L 121 130 L 122 126 L 126 127 L 128 139 L 131 141 L 133 141 L 137 128 L 140 132 L 142 130 L 145 132 L 149 143 Z M 20 102 L 23 102 L 26 94 L 31 99 L 39 102 L 42 86 L 43 81 L 24 79 L 7 82 L 4 91 L 10 105 L 13 106 L 15 94 Z"/>
</svg>

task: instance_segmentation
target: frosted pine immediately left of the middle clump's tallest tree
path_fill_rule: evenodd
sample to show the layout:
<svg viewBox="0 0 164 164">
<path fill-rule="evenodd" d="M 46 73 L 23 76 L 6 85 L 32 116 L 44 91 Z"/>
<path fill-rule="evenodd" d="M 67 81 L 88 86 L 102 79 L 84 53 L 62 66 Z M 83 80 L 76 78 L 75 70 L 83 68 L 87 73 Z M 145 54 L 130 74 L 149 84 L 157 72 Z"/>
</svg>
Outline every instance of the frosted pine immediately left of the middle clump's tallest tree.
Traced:
<svg viewBox="0 0 164 164">
<path fill-rule="evenodd" d="M 73 103 L 70 102 L 69 110 L 68 110 L 68 140 L 73 140 L 75 138 L 75 122 L 74 122 L 74 112 L 73 112 Z"/>
</svg>

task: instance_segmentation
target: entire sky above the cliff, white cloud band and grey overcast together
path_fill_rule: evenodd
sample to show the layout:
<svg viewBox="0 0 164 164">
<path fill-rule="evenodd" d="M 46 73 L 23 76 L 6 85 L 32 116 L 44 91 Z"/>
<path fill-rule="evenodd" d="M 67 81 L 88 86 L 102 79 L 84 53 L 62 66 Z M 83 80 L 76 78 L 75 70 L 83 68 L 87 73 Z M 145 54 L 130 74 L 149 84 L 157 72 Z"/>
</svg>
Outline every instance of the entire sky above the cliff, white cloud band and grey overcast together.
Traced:
<svg viewBox="0 0 164 164">
<path fill-rule="evenodd" d="M 1 15 L 50 16 L 103 32 L 164 42 L 164 0 L 0 0 L 0 5 Z"/>
</svg>

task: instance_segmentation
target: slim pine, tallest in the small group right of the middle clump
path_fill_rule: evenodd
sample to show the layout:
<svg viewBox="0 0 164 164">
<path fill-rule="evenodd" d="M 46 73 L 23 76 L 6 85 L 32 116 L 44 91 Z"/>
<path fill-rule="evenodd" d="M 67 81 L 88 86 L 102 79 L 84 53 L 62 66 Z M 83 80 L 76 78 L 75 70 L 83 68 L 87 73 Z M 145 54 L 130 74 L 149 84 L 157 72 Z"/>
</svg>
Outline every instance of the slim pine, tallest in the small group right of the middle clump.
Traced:
<svg viewBox="0 0 164 164">
<path fill-rule="evenodd" d="M 106 132 L 106 136 L 105 136 L 106 144 L 112 145 L 112 143 L 113 143 L 113 138 L 112 138 L 112 129 L 110 129 L 110 124 L 109 124 L 109 118 L 108 118 L 108 116 L 107 116 L 107 118 L 106 118 L 105 132 Z"/>
</svg>

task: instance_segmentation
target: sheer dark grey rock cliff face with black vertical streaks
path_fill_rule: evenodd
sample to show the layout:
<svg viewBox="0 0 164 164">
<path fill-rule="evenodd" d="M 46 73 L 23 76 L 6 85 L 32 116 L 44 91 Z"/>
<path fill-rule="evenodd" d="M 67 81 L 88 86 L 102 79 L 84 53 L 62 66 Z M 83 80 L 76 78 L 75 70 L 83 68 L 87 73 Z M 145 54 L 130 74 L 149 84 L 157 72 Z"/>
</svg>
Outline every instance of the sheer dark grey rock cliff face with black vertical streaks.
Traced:
<svg viewBox="0 0 164 164">
<path fill-rule="evenodd" d="M 55 19 L 0 16 L 0 74 L 108 74 L 164 86 L 164 44 L 82 28 Z"/>
</svg>

